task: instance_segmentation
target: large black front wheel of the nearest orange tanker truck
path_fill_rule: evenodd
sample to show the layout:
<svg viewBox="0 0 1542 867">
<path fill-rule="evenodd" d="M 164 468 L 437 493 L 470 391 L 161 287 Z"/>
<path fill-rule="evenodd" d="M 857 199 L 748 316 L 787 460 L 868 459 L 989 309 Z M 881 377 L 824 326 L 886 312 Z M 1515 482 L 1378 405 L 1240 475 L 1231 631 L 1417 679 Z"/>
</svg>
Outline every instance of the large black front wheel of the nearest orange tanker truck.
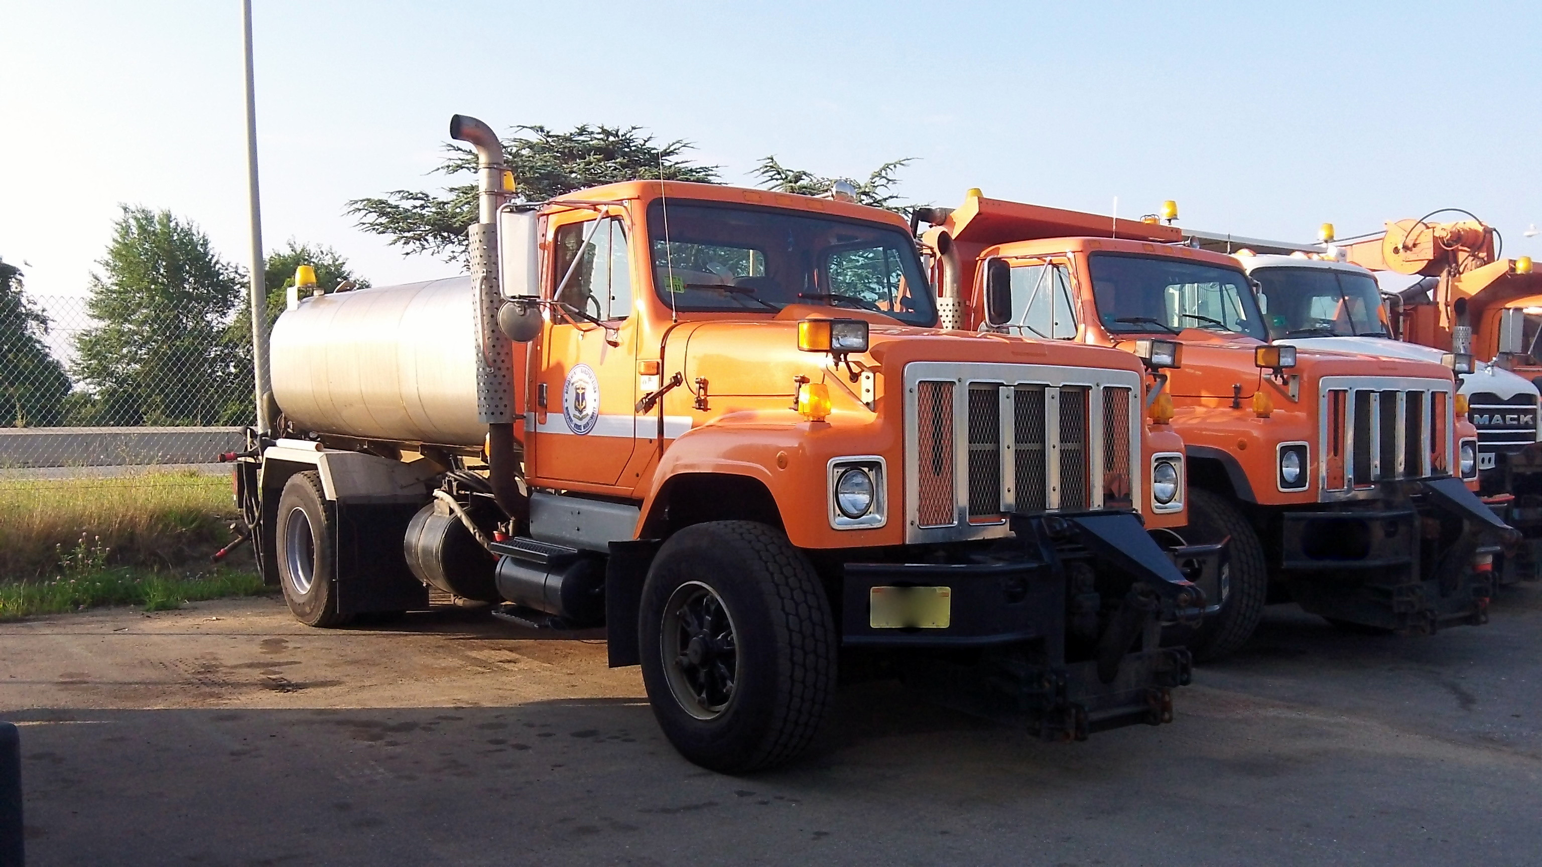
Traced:
<svg viewBox="0 0 1542 867">
<path fill-rule="evenodd" d="M 836 629 L 808 558 L 754 521 L 689 526 L 660 548 L 638 612 L 643 683 L 665 737 L 720 773 L 786 762 L 836 691 Z"/>
</svg>

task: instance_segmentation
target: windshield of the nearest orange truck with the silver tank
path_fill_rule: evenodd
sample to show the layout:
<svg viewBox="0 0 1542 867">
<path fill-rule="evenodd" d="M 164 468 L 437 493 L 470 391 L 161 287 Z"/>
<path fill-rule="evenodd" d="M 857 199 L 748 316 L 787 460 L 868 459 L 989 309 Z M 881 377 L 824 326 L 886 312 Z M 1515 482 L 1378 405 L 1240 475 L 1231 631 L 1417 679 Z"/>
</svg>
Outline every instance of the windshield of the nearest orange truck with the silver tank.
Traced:
<svg viewBox="0 0 1542 867">
<path fill-rule="evenodd" d="M 899 228 L 771 208 L 668 202 L 648 208 L 654 287 L 682 312 L 827 304 L 931 326 L 931 290 Z"/>
</svg>

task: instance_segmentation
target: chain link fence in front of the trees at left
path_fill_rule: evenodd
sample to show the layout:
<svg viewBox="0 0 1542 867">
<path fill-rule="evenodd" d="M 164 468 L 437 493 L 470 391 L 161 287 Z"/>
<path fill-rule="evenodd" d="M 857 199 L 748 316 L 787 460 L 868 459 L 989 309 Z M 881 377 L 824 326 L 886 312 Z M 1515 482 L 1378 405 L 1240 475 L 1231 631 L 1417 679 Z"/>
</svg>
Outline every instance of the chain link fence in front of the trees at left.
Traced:
<svg viewBox="0 0 1542 867">
<path fill-rule="evenodd" d="M 85 296 L 5 293 L 0 481 L 207 484 L 199 475 L 244 446 L 251 420 L 245 335 L 174 307 L 103 312 Z"/>
</svg>

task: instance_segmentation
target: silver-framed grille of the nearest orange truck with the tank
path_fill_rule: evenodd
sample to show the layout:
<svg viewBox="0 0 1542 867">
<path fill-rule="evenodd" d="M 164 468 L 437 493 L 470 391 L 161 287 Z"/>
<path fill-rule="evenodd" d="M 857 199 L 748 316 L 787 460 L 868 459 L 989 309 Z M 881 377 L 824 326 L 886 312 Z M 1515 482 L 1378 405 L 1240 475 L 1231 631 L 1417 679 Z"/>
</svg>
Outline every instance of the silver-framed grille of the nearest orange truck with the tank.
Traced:
<svg viewBox="0 0 1542 867">
<path fill-rule="evenodd" d="M 1129 370 L 911 363 L 907 538 L 988 538 L 1012 514 L 1132 508 L 1138 401 Z"/>
</svg>

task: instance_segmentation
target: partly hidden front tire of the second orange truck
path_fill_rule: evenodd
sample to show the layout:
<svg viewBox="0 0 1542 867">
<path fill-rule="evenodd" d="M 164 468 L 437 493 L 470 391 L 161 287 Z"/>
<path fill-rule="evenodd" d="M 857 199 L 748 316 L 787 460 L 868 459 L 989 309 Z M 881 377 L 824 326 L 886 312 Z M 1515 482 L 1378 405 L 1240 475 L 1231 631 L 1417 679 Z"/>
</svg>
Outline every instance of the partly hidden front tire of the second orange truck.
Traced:
<svg viewBox="0 0 1542 867">
<path fill-rule="evenodd" d="M 1258 628 L 1269 592 L 1269 566 L 1252 521 L 1220 494 L 1190 489 L 1189 515 L 1183 532 L 1190 543 L 1212 545 L 1231 537 L 1226 549 L 1231 586 L 1221 609 L 1206 617 L 1187 640 L 1195 662 L 1212 662 L 1237 653 Z"/>
</svg>

